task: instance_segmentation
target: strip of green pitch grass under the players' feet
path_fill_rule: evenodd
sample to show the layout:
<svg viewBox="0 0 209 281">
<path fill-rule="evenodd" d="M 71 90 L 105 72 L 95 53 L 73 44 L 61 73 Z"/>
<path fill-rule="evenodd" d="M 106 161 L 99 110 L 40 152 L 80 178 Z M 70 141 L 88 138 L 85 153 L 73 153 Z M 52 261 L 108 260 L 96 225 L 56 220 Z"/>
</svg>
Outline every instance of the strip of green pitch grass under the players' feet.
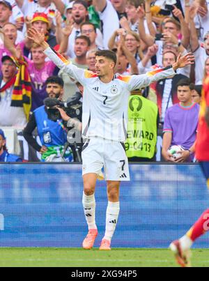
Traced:
<svg viewBox="0 0 209 281">
<path fill-rule="evenodd" d="M 209 266 L 209 249 L 192 250 L 192 266 Z M 176 266 L 167 249 L 0 248 L 2 266 Z"/>
</svg>

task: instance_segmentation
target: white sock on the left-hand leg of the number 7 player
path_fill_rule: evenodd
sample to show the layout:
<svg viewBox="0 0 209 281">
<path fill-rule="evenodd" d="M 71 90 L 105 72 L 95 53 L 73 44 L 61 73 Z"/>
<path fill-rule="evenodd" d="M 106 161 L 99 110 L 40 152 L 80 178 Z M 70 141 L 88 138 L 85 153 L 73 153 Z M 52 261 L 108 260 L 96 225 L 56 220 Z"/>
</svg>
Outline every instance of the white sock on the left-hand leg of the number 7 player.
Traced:
<svg viewBox="0 0 209 281">
<path fill-rule="evenodd" d="M 95 197 L 94 194 L 87 196 L 83 193 L 82 203 L 84 206 L 84 214 L 89 229 L 97 229 L 95 225 Z"/>
</svg>

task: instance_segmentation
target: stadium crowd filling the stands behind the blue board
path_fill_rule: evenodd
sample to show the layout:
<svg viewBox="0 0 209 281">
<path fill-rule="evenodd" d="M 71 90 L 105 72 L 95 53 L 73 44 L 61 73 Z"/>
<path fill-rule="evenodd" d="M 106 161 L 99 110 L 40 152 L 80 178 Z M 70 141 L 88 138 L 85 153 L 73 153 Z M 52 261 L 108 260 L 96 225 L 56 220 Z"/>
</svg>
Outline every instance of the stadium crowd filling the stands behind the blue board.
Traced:
<svg viewBox="0 0 209 281">
<path fill-rule="evenodd" d="M 125 149 L 131 161 L 155 161 L 160 129 L 164 160 L 194 160 L 201 84 L 209 75 L 208 0 L 0 0 L 0 128 L 24 130 L 44 161 L 58 161 L 66 153 L 65 160 L 77 161 L 82 140 L 64 146 L 66 122 L 70 121 L 72 139 L 72 132 L 76 135 L 72 121 L 81 121 L 82 86 L 27 37 L 31 26 L 43 30 L 50 47 L 75 66 L 93 72 L 95 52 L 101 49 L 116 52 L 119 75 L 166 68 L 179 53 L 192 52 L 192 66 L 132 92 Z M 49 120 L 44 105 L 48 97 L 70 100 L 70 114 L 54 109 L 57 122 Z M 36 127 L 39 144 L 32 137 Z M 6 139 L 3 131 L 1 137 Z M 178 160 L 168 152 L 171 145 L 185 149 Z"/>
</svg>

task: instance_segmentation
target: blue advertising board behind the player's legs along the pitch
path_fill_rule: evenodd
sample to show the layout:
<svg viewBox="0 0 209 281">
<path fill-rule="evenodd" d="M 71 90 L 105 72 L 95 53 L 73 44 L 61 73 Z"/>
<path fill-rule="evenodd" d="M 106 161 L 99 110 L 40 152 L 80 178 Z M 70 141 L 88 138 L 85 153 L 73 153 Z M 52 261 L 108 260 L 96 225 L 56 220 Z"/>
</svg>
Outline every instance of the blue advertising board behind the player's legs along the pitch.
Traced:
<svg viewBox="0 0 209 281">
<path fill-rule="evenodd" d="M 114 248 L 167 248 L 202 211 L 209 194 L 199 165 L 130 165 L 121 184 Z M 1 247 L 80 247 L 87 233 L 82 208 L 82 167 L 77 164 L 0 165 Z M 105 227 L 105 181 L 98 181 L 99 246 Z M 208 248 L 208 235 L 196 248 Z"/>
</svg>

